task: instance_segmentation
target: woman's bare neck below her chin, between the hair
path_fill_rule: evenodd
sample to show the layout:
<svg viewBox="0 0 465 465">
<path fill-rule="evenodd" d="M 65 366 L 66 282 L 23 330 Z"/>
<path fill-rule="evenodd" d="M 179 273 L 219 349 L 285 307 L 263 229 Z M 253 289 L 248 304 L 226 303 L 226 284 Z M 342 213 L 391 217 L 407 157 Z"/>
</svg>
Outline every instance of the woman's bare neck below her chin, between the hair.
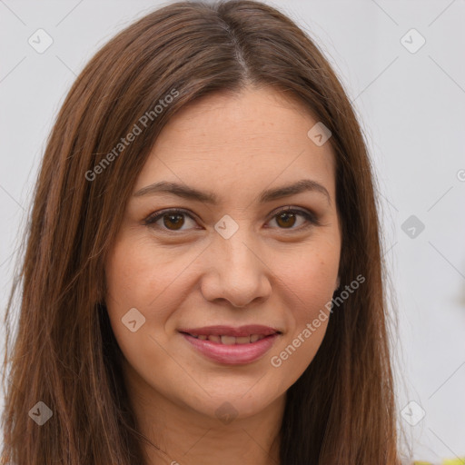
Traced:
<svg viewBox="0 0 465 465">
<path fill-rule="evenodd" d="M 130 378 L 128 391 L 140 432 L 152 443 L 143 443 L 147 465 L 280 464 L 285 396 L 246 418 L 234 411 L 238 415 L 232 420 L 221 413 L 233 412 L 227 404 L 218 417 L 214 411 L 207 415 L 168 400 L 140 378 Z"/>
</svg>

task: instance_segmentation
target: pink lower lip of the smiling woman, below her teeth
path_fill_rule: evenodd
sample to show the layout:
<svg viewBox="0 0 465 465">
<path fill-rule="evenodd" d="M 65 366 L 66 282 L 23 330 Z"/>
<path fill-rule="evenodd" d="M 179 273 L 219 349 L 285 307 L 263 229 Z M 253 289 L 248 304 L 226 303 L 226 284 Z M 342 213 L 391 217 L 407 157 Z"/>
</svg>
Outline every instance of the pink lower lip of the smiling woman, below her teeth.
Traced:
<svg viewBox="0 0 465 465">
<path fill-rule="evenodd" d="M 260 341 L 249 342 L 248 344 L 228 345 L 222 344 L 221 342 L 202 341 L 183 332 L 182 334 L 184 339 L 193 344 L 195 349 L 200 351 L 205 357 L 229 365 L 252 363 L 252 361 L 260 359 L 272 348 L 272 344 L 279 336 L 279 334 L 276 333 L 266 336 Z"/>
</svg>

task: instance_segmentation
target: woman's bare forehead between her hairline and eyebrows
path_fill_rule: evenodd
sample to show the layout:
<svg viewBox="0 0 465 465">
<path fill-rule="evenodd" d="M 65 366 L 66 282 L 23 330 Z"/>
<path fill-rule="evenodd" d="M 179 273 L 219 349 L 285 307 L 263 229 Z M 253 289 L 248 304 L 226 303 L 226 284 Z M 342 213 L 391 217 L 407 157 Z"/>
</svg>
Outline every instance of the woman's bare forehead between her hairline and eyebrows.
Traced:
<svg viewBox="0 0 465 465">
<path fill-rule="evenodd" d="M 318 146 L 307 135 L 317 123 L 303 104 L 271 88 L 206 95 L 163 127 L 134 189 L 171 181 L 222 197 L 307 177 L 333 197 L 331 143 Z"/>
</svg>

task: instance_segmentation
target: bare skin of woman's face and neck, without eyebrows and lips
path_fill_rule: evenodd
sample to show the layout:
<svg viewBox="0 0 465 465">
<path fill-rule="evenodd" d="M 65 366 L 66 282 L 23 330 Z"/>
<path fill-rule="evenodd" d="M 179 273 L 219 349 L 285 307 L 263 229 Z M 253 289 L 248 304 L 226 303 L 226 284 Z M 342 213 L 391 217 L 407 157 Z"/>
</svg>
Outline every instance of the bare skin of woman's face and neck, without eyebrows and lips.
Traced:
<svg viewBox="0 0 465 465">
<path fill-rule="evenodd" d="M 279 463 L 272 440 L 285 392 L 311 363 L 328 320 L 281 366 L 271 359 L 321 314 L 338 285 L 334 155 L 330 143 L 308 137 L 317 122 L 266 87 L 206 95 L 163 128 L 143 166 L 134 193 L 168 181 L 220 199 L 133 196 L 105 263 L 106 305 L 134 411 L 143 434 L 163 450 L 147 448 L 150 464 Z M 331 200 L 307 191 L 258 203 L 263 190 L 302 179 L 322 184 Z M 316 214 L 320 225 L 299 214 L 280 221 L 289 206 Z M 192 218 L 182 215 L 178 226 L 166 216 L 144 223 L 167 208 Z M 239 226 L 229 239 L 214 229 L 225 214 Z M 122 322 L 131 308 L 145 318 L 135 332 Z M 177 331 L 252 323 L 282 335 L 260 360 L 236 366 L 204 358 Z M 236 415 L 227 424 L 215 413 L 222 405 Z"/>
</svg>

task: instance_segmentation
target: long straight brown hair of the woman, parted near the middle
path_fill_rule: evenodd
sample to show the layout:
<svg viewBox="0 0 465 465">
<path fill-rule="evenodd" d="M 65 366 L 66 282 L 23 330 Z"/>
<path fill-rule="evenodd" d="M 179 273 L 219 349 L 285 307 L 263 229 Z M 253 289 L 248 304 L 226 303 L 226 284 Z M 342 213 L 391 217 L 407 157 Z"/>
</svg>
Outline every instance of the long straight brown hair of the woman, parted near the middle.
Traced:
<svg viewBox="0 0 465 465">
<path fill-rule="evenodd" d="M 180 2 L 145 15 L 94 55 L 67 95 L 5 316 L 3 454 L 11 463 L 143 463 L 145 439 L 104 306 L 104 260 L 164 124 L 198 97 L 249 84 L 294 96 L 331 130 L 341 288 L 365 278 L 287 391 L 281 465 L 399 463 L 381 233 L 361 128 L 311 38 L 250 0 Z M 126 143 L 135 125 L 140 133 Z M 53 412 L 41 427 L 28 414 L 39 401 Z"/>
</svg>

